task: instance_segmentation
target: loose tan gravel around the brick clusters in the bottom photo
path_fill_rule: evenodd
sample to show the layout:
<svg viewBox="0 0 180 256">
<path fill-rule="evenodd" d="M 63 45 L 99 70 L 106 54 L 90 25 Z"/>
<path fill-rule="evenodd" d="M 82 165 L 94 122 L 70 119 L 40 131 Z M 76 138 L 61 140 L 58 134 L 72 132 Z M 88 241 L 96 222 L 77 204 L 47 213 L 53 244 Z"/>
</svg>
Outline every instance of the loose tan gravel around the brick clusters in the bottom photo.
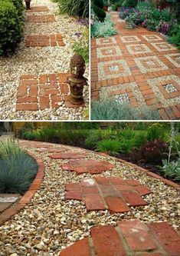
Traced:
<svg viewBox="0 0 180 256">
<path fill-rule="evenodd" d="M 92 151 L 79 148 L 67 148 L 74 152 L 85 152 L 87 158 L 103 159 L 115 165 L 112 171 L 105 171 L 100 176 L 136 179 L 146 185 L 152 191 L 152 194 L 144 197 L 149 205 L 132 208 L 133 211 L 125 214 L 110 215 L 109 211 L 87 212 L 83 201 L 64 201 L 64 185 L 94 176 L 62 171 L 60 165 L 67 163 L 67 160 L 52 160 L 48 157 L 50 153 L 38 153 L 34 148 L 28 148 L 44 161 L 45 178 L 41 190 L 34 195 L 28 206 L 0 227 L 1 256 L 58 255 L 62 249 L 88 236 L 93 226 L 116 225 L 116 221 L 125 219 L 139 219 L 145 223 L 168 221 L 174 228 L 180 226 L 179 194 L 174 188 L 129 165 L 116 162 L 109 156 L 96 155 Z"/>
</svg>

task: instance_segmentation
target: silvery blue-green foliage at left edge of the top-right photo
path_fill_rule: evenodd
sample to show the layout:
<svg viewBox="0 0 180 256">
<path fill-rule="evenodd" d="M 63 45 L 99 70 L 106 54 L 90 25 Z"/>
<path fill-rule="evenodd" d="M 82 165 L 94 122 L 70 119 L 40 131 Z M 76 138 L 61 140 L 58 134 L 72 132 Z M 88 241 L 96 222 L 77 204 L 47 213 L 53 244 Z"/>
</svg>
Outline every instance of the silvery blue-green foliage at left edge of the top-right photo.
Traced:
<svg viewBox="0 0 180 256">
<path fill-rule="evenodd" d="M 91 37 L 93 38 L 106 38 L 111 35 L 116 35 L 116 29 L 114 28 L 114 24 L 110 19 L 110 15 L 106 15 L 104 22 L 99 22 L 98 20 L 94 20 L 91 25 Z"/>
</svg>

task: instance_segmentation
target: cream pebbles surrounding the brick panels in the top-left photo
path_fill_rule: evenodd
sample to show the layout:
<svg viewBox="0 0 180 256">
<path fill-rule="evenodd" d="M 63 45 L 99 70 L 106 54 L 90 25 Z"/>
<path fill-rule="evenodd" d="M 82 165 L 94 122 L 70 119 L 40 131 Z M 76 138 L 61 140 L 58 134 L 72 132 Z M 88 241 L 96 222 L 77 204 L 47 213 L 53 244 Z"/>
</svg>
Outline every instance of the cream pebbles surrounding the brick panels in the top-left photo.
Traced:
<svg viewBox="0 0 180 256">
<path fill-rule="evenodd" d="M 83 25 L 77 24 L 75 18 L 59 15 L 57 3 L 51 0 L 32 0 L 32 6 L 45 5 L 49 12 L 38 12 L 37 15 L 54 14 L 56 22 L 31 23 L 25 22 L 24 34 L 61 34 L 64 36 L 64 47 L 25 48 L 22 40 L 15 55 L 9 58 L 0 57 L 0 119 L 72 119 L 85 118 L 84 111 L 88 106 L 88 86 L 84 87 L 85 108 L 45 109 L 43 111 L 15 111 L 16 93 L 21 75 L 41 75 L 47 73 L 64 73 L 69 71 L 70 58 L 74 55 L 71 46 L 78 40 L 75 32 L 82 32 Z M 25 15 L 27 15 L 25 13 Z M 28 15 L 34 15 L 29 13 Z M 86 77 L 89 75 L 87 65 Z"/>
</svg>

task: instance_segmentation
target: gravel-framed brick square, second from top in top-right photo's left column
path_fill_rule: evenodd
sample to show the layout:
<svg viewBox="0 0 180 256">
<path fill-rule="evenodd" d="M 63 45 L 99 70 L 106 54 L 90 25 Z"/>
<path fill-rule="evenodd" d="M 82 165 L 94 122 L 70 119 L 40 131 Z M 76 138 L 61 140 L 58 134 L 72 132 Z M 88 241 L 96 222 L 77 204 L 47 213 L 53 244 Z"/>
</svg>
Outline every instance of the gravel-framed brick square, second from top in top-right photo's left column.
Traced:
<svg viewBox="0 0 180 256">
<path fill-rule="evenodd" d="M 119 46 L 97 48 L 97 58 L 117 57 L 121 55 L 122 52 Z"/>
</svg>

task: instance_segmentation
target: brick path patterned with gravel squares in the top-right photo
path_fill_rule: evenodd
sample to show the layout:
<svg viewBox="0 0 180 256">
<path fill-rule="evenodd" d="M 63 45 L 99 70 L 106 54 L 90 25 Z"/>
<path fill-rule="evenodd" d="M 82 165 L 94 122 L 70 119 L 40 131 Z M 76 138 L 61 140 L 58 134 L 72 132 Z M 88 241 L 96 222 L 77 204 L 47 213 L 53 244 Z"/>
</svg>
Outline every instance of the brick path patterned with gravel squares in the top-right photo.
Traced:
<svg viewBox="0 0 180 256">
<path fill-rule="evenodd" d="M 111 12 L 117 35 L 91 41 L 92 98 L 158 109 L 162 119 L 180 118 L 180 53 L 146 28 L 128 30 Z"/>
</svg>

